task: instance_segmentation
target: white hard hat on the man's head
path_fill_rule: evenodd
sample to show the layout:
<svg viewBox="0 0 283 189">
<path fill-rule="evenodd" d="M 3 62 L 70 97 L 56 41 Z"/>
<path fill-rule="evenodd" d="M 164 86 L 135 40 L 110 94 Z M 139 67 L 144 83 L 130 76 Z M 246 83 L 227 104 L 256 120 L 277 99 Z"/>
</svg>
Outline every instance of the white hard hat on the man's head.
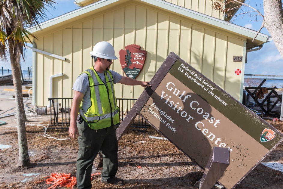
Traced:
<svg viewBox="0 0 283 189">
<path fill-rule="evenodd" d="M 105 58 L 105 59 L 111 59 L 111 60 L 118 59 L 115 56 L 114 47 L 106 41 L 96 43 L 96 45 L 94 45 L 93 50 L 90 52 L 90 54 L 95 57 L 99 57 L 99 58 Z"/>
</svg>

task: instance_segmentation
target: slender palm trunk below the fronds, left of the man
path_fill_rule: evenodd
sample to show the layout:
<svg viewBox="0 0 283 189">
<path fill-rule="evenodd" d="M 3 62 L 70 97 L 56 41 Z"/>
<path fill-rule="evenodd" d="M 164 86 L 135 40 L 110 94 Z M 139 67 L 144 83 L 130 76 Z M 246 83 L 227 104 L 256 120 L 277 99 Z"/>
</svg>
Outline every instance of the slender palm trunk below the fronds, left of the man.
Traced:
<svg viewBox="0 0 283 189">
<path fill-rule="evenodd" d="M 19 143 L 19 161 L 18 166 L 29 166 L 29 150 L 28 142 L 26 138 L 26 114 L 23 104 L 23 92 L 22 92 L 22 81 L 21 73 L 19 68 L 19 63 L 17 62 L 15 53 L 13 52 L 13 44 L 11 39 L 8 39 L 9 53 L 11 60 L 11 68 L 13 75 L 13 82 L 15 88 L 15 98 L 16 98 L 16 111 L 17 111 L 17 130 L 18 130 L 18 143 Z"/>
</svg>

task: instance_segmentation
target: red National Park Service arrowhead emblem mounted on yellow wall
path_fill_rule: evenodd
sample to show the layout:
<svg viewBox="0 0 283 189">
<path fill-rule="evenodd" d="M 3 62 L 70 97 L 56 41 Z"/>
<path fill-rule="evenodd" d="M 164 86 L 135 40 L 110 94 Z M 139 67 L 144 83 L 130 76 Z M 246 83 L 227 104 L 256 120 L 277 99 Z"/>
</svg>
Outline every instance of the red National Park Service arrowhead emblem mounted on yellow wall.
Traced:
<svg viewBox="0 0 283 189">
<path fill-rule="evenodd" d="M 132 79 L 138 76 L 145 64 L 146 51 L 140 48 L 139 45 L 127 45 L 125 50 L 119 51 L 122 70 Z"/>
</svg>

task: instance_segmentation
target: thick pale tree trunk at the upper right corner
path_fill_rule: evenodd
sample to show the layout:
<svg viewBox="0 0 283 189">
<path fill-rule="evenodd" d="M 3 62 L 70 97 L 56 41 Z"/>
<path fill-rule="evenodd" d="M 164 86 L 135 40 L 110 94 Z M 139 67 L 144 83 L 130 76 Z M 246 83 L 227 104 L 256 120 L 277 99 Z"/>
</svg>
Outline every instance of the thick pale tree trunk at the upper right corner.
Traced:
<svg viewBox="0 0 283 189">
<path fill-rule="evenodd" d="M 283 58 L 283 11 L 281 0 L 263 0 L 263 26 L 271 35 Z"/>
</svg>

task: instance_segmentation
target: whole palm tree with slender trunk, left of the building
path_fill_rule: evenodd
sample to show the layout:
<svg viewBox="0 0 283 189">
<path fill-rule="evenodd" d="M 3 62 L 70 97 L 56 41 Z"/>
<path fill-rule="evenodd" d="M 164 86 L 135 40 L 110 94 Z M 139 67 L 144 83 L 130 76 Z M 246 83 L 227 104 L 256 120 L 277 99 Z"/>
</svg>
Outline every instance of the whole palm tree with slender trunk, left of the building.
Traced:
<svg viewBox="0 0 283 189">
<path fill-rule="evenodd" d="M 41 21 L 46 19 L 46 6 L 53 8 L 53 3 L 51 0 L 0 0 L 0 58 L 8 61 L 8 57 L 10 57 L 11 61 L 17 110 L 18 166 L 29 166 L 30 164 L 20 59 L 24 60 L 25 42 L 31 42 L 29 35 L 35 36 L 29 33 L 26 28 L 39 25 Z"/>
</svg>

